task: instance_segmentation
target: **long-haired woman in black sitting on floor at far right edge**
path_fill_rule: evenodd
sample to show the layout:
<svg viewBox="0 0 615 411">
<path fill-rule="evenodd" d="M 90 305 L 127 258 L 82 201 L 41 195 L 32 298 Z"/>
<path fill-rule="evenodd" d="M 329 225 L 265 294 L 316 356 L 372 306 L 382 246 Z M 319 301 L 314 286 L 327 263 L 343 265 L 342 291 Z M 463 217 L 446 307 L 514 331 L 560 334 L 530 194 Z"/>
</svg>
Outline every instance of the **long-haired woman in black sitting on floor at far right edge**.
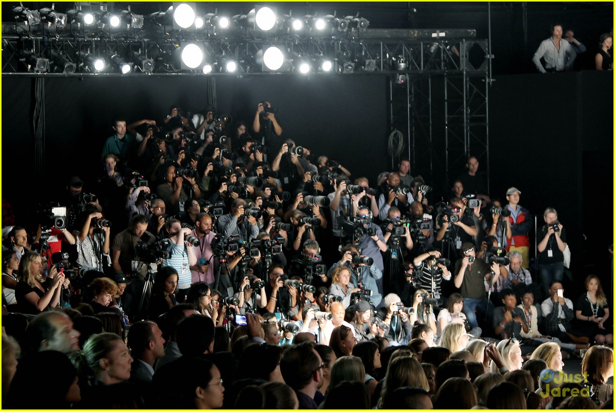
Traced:
<svg viewBox="0 0 615 411">
<path fill-rule="evenodd" d="M 588 275 L 585 289 L 587 292 L 579 297 L 576 304 L 575 334 L 585 335 L 597 344 L 613 344 L 613 321 L 609 321 L 611 313 L 600 279 L 593 274 Z"/>
</svg>

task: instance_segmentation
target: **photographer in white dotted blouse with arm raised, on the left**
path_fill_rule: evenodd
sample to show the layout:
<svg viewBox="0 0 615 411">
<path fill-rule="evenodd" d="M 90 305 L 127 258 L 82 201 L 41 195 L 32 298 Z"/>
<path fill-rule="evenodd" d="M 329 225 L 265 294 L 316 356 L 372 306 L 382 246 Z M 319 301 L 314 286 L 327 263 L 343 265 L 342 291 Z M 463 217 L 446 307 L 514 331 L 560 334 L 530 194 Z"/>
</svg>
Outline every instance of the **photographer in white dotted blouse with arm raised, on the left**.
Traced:
<svg viewBox="0 0 615 411">
<path fill-rule="evenodd" d="M 111 223 L 103 219 L 103 214 L 97 213 L 93 206 L 87 206 L 77 217 L 77 224 L 81 225 L 81 232 L 77 235 L 76 242 L 77 264 L 103 271 L 103 268 L 111 265 L 109 257 Z"/>
</svg>

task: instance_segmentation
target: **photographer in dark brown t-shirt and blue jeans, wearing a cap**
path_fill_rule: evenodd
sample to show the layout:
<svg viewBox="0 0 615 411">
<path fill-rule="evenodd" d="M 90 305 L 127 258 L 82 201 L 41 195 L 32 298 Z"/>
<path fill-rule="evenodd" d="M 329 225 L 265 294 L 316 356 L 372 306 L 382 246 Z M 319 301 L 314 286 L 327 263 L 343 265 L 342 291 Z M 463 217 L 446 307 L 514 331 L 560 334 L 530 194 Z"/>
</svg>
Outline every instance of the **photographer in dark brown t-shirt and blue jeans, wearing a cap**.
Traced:
<svg viewBox="0 0 615 411">
<path fill-rule="evenodd" d="M 499 278 L 500 267 L 497 262 L 493 262 L 490 270 L 484 260 L 476 259 L 472 243 L 463 243 L 461 252 L 464 257 L 455 262 L 454 285 L 464 297 L 464 313 L 470 326 L 474 328 L 478 327 L 477 308 L 478 313 L 485 313 L 489 307 L 489 311 L 493 313 L 493 304 L 487 300 L 484 281 L 485 277 L 493 272 L 495 283 Z M 487 319 L 486 323 L 490 324 L 490 321 Z"/>
</svg>

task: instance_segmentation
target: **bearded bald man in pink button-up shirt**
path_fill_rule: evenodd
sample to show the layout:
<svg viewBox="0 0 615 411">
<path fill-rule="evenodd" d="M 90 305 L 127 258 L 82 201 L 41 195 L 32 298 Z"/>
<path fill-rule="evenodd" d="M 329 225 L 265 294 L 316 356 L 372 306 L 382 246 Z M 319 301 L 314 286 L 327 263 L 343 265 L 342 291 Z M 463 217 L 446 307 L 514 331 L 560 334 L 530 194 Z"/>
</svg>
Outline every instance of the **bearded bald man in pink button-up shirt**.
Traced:
<svg viewBox="0 0 615 411">
<path fill-rule="evenodd" d="M 200 213 L 196 217 L 196 227 L 191 234 L 198 238 L 200 242 L 193 249 L 196 263 L 190 266 L 192 284 L 199 281 L 212 284 L 215 281 L 212 264 L 212 240 L 216 236 L 216 233 L 212 231 L 212 217 L 207 213 Z"/>
</svg>

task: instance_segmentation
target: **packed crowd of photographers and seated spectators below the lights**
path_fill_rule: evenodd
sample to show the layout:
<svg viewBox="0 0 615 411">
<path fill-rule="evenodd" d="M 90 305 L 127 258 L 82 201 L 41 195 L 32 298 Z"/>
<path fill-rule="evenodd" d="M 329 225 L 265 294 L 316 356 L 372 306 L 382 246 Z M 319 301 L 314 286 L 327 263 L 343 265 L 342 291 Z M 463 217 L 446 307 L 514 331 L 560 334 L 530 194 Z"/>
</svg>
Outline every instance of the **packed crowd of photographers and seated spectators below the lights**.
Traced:
<svg viewBox="0 0 615 411">
<path fill-rule="evenodd" d="M 370 183 L 282 139 L 268 101 L 113 130 L 96 181 L 3 222 L 3 407 L 613 406 L 608 275 L 568 298 L 554 208 L 530 265 L 522 193 L 476 157 L 431 203 L 407 159 Z M 568 358 L 584 381 L 547 382 Z"/>
</svg>

